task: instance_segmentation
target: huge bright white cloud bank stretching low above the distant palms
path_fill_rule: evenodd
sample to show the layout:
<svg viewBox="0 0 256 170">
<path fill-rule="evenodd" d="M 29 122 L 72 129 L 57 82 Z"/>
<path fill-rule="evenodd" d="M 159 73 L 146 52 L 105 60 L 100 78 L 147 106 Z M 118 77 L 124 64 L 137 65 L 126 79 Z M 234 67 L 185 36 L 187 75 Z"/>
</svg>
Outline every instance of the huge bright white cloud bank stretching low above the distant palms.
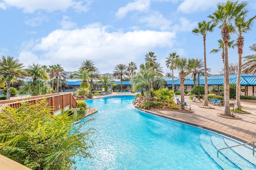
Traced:
<svg viewBox="0 0 256 170">
<path fill-rule="evenodd" d="M 171 47 L 175 33 L 160 31 L 108 32 L 99 23 L 83 29 L 55 30 L 35 42 L 31 53 L 22 52 L 21 62 L 32 64 L 37 54 L 39 64 L 62 64 L 65 70 L 78 70 L 81 62 L 89 59 L 100 72 L 112 72 L 116 64 L 144 62 L 144 55 L 154 48 Z M 31 44 L 31 43 L 30 43 Z M 29 45 L 28 45 L 29 46 Z M 25 55 L 24 55 L 25 54 Z M 27 56 L 27 57 L 26 57 Z"/>
</svg>

